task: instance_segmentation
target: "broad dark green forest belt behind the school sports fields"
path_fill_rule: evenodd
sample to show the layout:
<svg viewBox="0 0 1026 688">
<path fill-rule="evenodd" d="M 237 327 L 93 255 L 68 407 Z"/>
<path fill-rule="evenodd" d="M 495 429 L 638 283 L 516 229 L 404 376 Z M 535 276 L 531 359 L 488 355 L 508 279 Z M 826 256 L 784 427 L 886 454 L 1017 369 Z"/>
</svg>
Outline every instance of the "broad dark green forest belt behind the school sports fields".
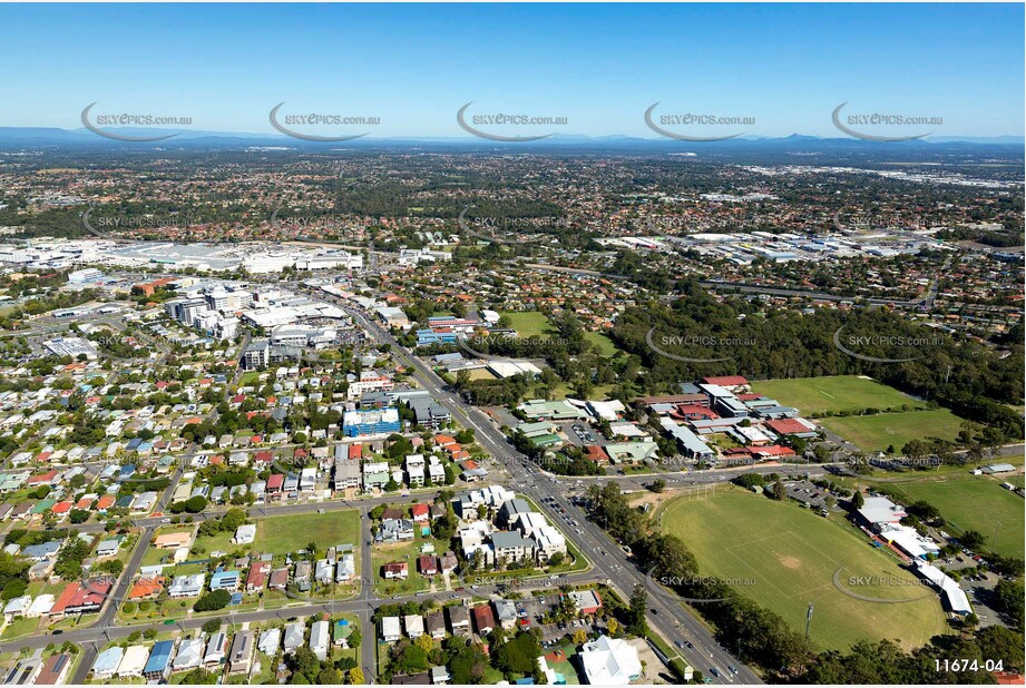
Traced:
<svg viewBox="0 0 1026 688">
<path fill-rule="evenodd" d="M 667 353 L 726 360 L 696 364 L 659 355 L 646 343 L 652 327 L 653 343 Z M 850 356 L 834 344 L 842 327 L 846 336 L 869 333 L 879 342 L 860 347 L 860 354 L 919 357 L 882 364 Z M 691 335 L 706 337 L 698 341 L 716 342 L 717 346 L 675 345 Z M 720 303 L 687 283 L 670 307 L 646 304 L 624 313 L 612 336 L 648 365 L 649 374 L 639 382 L 652 394 L 674 392 L 682 380 L 704 375 L 741 373 L 750 380 L 868 375 L 990 426 L 999 434 L 994 440 L 1023 436 L 1023 419 L 1008 406 L 1023 403 L 1022 343 L 1013 346 L 1012 355 L 1000 357 L 976 342 L 956 342 L 886 309 L 762 314 L 750 302 L 727 298 Z M 888 337 L 928 340 L 930 345 L 896 351 L 886 345 L 895 341 Z"/>
</svg>

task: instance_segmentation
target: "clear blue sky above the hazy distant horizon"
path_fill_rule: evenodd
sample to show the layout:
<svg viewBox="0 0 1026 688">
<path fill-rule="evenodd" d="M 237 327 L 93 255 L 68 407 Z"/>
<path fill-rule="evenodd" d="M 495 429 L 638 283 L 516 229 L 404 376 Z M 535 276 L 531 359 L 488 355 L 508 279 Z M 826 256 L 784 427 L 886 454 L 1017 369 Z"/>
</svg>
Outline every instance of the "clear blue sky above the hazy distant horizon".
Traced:
<svg viewBox="0 0 1026 688">
<path fill-rule="evenodd" d="M 466 136 L 456 112 L 472 100 L 568 120 L 497 132 L 653 137 L 643 114 L 659 101 L 755 119 L 717 132 L 840 136 L 830 115 L 849 101 L 942 117 L 937 135 L 1024 129 L 1014 3 L 0 4 L 0 126 L 78 128 L 98 101 L 270 134 L 285 101 L 381 119 L 302 131 Z"/>
</svg>

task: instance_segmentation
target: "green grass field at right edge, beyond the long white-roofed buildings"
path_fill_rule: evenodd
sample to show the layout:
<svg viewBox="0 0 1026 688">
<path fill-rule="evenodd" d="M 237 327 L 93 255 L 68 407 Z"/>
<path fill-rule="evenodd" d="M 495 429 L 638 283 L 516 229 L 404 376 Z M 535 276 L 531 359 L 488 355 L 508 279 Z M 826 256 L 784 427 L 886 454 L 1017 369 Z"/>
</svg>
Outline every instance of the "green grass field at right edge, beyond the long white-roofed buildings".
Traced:
<svg viewBox="0 0 1026 688">
<path fill-rule="evenodd" d="M 999 554 L 1024 557 L 1023 498 L 1001 486 L 1000 476 L 950 473 L 888 481 L 887 488 L 900 492 L 909 502 L 925 500 L 948 522 L 945 530 L 957 534 L 976 530 L 987 537 L 987 547 Z M 995 535 L 996 533 L 996 535 Z"/>
</svg>

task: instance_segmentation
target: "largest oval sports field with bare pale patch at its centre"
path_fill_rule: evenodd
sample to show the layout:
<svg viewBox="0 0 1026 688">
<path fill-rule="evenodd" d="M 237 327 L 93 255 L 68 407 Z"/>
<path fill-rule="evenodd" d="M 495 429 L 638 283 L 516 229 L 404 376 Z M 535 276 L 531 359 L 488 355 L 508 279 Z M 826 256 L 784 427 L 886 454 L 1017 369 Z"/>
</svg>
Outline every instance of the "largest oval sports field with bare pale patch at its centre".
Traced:
<svg viewBox="0 0 1026 688">
<path fill-rule="evenodd" d="M 670 502 L 659 522 L 694 552 L 701 574 L 737 580 L 737 592 L 794 630 L 804 631 L 813 603 L 811 638 L 821 649 L 843 650 L 861 639 L 883 638 L 910 649 L 947 629 L 937 594 L 842 520 L 727 488 Z M 846 594 L 833 584 L 839 568 L 841 584 L 857 594 L 908 601 L 880 603 Z M 846 584 L 851 577 L 871 579 Z"/>
</svg>

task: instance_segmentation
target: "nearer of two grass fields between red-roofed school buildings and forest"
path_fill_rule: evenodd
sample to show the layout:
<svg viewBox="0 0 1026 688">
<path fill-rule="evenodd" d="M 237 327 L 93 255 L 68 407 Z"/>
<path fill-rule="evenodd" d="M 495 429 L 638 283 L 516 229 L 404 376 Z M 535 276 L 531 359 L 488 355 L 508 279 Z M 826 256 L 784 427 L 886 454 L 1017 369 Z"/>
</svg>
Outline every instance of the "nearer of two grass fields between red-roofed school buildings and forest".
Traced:
<svg viewBox="0 0 1026 688">
<path fill-rule="evenodd" d="M 882 452 L 889 445 L 901 451 L 910 440 L 940 438 L 955 440 L 963 420 L 947 409 L 829 417 L 823 425 L 869 452 Z"/>
</svg>

